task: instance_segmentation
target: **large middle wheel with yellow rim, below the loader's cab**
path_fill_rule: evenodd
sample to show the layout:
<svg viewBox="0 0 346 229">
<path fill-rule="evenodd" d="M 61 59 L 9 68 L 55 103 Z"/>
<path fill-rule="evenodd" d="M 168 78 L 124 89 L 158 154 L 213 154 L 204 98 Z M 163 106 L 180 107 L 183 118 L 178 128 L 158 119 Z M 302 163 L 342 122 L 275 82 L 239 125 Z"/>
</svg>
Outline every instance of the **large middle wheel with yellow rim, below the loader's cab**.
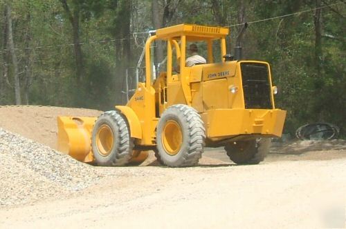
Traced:
<svg viewBox="0 0 346 229">
<path fill-rule="evenodd" d="M 194 108 L 182 104 L 167 108 L 156 129 L 157 161 L 170 167 L 196 165 L 204 150 L 205 132 Z"/>
</svg>

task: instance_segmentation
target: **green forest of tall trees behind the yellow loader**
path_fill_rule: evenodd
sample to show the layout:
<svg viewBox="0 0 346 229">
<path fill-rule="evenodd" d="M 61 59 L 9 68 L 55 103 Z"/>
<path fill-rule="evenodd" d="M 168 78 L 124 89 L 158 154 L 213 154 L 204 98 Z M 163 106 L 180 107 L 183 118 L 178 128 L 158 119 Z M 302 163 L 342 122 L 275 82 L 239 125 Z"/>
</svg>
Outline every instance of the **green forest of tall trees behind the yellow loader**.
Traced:
<svg viewBox="0 0 346 229">
<path fill-rule="evenodd" d="M 346 135 L 346 1 L 0 0 L 0 13 L 0 105 L 111 110 L 147 31 L 198 23 L 229 26 L 229 52 L 238 38 L 244 59 L 271 64 L 284 132 L 324 121 Z"/>
</svg>

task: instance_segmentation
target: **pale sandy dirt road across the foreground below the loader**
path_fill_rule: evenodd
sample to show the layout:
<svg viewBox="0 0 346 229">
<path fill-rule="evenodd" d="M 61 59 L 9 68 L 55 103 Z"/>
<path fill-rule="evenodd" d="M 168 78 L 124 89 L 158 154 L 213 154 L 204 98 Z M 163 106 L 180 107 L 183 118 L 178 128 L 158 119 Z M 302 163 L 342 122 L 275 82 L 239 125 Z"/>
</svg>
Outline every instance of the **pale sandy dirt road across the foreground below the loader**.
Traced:
<svg viewBox="0 0 346 229">
<path fill-rule="evenodd" d="M 69 199 L 0 210 L 0 227 L 320 227 L 330 210 L 345 212 L 345 165 L 346 159 L 334 159 L 133 167 Z"/>
</svg>

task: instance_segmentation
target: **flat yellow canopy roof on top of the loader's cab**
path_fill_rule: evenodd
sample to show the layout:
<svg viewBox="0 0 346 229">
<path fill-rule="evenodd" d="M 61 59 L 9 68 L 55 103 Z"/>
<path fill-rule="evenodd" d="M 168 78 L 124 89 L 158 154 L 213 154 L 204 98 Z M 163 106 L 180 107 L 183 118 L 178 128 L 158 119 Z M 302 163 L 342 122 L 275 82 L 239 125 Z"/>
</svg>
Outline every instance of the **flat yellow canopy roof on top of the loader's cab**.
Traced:
<svg viewBox="0 0 346 229">
<path fill-rule="evenodd" d="M 228 35 L 228 28 L 180 24 L 156 30 L 158 39 L 180 39 L 185 35 L 188 41 L 221 39 Z"/>
</svg>

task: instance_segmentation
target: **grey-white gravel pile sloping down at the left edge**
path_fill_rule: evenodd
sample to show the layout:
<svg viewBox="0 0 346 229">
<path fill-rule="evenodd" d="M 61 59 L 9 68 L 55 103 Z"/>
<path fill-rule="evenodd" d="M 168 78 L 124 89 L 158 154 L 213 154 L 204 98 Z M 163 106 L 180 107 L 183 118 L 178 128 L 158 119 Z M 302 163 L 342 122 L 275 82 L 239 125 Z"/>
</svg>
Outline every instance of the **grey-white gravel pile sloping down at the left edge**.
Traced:
<svg viewBox="0 0 346 229">
<path fill-rule="evenodd" d="M 93 166 L 0 128 L 0 206 L 77 192 L 101 177 Z"/>
</svg>

